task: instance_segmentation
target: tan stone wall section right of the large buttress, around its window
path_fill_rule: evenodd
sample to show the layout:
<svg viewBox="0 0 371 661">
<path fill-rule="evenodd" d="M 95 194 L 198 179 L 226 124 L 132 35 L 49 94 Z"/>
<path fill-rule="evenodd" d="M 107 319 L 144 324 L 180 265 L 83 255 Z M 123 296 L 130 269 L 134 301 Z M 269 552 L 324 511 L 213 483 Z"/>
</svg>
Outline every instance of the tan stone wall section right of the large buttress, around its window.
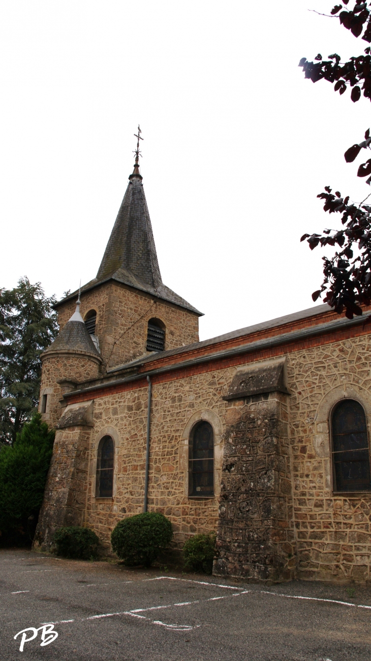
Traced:
<svg viewBox="0 0 371 661">
<path fill-rule="evenodd" d="M 290 442 L 300 578 L 370 580 L 371 493 L 336 494 L 329 416 L 343 399 L 366 411 L 371 440 L 370 334 L 290 356 Z"/>
</svg>

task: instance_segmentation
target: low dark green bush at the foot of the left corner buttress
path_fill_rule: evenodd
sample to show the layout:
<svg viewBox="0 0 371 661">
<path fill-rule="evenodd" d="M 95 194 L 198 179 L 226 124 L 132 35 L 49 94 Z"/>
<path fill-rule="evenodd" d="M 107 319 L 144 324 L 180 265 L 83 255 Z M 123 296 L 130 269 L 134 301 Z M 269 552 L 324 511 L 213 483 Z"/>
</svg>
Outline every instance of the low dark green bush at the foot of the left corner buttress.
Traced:
<svg viewBox="0 0 371 661">
<path fill-rule="evenodd" d="M 58 528 L 53 537 L 57 555 L 64 558 L 90 560 L 98 553 L 99 537 L 80 525 Z"/>
</svg>

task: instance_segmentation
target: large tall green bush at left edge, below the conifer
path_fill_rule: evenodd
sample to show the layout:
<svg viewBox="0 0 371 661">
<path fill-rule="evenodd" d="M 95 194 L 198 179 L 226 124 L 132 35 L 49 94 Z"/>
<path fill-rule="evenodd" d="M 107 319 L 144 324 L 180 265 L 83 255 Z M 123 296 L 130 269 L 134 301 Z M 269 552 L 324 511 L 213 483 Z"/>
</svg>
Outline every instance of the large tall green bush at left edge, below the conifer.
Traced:
<svg viewBox="0 0 371 661">
<path fill-rule="evenodd" d="M 12 446 L 0 446 L 1 545 L 30 544 L 42 505 L 55 432 L 36 414 Z"/>
</svg>

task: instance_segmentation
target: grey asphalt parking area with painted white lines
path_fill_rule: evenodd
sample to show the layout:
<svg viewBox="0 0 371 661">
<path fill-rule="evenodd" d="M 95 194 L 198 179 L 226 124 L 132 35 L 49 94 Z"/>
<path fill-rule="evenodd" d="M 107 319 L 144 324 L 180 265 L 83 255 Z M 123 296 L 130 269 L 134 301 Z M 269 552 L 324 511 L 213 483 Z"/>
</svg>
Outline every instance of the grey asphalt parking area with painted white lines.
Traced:
<svg viewBox="0 0 371 661">
<path fill-rule="evenodd" d="M 370 661 L 371 589 L 0 550 L 0 660 Z"/>
</svg>

